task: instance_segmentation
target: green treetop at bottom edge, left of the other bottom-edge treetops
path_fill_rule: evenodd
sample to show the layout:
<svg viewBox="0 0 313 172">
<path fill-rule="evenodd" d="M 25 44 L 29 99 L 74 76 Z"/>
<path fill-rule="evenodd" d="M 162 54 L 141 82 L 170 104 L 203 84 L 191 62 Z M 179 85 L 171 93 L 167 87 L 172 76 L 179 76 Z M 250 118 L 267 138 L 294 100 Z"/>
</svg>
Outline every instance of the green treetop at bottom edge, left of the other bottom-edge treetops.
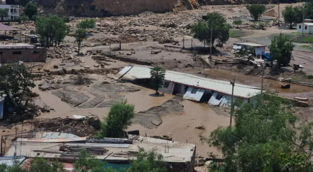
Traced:
<svg viewBox="0 0 313 172">
<path fill-rule="evenodd" d="M 56 161 L 49 162 L 44 158 L 35 157 L 30 162 L 28 172 L 66 172 L 63 168 L 62 163 Z"/>
</svg>

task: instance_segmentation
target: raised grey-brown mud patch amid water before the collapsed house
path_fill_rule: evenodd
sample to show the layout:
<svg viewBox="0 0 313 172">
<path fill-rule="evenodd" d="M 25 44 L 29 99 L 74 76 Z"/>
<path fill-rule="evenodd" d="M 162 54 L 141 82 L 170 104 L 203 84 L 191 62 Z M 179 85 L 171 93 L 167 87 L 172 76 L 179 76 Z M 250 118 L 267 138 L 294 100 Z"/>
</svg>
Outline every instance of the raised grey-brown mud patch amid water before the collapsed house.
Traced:
<svg viewBox="0 0 313 172">
<path fill-rule="evenodd" d="M 161 125 L 161 116 L 184 113 L 182 105 L 179 104 L 181 100 L 181 97 L 174 97 L 173 99 L 164 102 L 160 106 L 149 108 L 145 111 L 140 111 L 135 115 L 132 122 L 134 124 L 140 124 L 148 129 L 154 129 Z"/>
</svg>

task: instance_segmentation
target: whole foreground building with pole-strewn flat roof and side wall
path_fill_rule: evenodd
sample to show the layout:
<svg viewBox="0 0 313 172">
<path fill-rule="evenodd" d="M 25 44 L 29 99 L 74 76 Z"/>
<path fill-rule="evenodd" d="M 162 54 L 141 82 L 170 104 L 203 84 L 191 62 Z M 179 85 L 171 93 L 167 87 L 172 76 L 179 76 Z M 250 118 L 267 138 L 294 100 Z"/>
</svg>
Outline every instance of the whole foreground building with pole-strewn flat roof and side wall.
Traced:
<svg viewBox="0 0 313 172">
<path fill-rule="evenodd" d="M 47 137 L 48 136 L 48 137 Z M 77 142 L 73 142 L 75 139 Z M 60 151 L 60 144 L 83 148 L 97 147 L 104 148 L 103 154 L 95 155 L 97 159 L 102 159 L 114 166 L 119 164 L 129 164 L 136 158 L 139 149 L 145 151 L 155 151 L 163 156 L 166 162 L 167 172 L 194 172 L 196 145 L 181 143 L 169 140 L 129 135 L 128 139 L 104 138 L 113 140 L 109 143 L 97 143 L 86 140 L 86 137 L 75 137 L 67 133 L 49 132 L 37 133 L 36 138 L 18 138 L 7 151 L 7 156 L 12 156 L 18 152 L 27 157 L 57 158 L 61 162 L 73 163 L 76 155 L 69 155 L 68 151 Z M 122 142 L 121 142 L 122 141 Z M 127 141 L 124 142 L 124 141 Z"/>
</svg>

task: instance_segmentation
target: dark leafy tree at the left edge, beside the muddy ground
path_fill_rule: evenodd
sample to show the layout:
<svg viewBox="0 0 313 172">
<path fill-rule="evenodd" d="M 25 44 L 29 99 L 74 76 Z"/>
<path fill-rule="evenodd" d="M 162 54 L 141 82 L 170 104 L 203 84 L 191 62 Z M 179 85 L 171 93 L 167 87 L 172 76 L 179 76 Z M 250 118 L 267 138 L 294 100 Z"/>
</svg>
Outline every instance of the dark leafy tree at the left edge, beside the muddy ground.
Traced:
<svg viewBox="0 0 313 172">
<path fill-rule="evenodd" d="M 35 87 L 33 75 L 24 65 L 5 64 L 0 67 L 0 95 L 5 94 L 18 118 L 28 107 L 31 89 Z"/>
</svg>

